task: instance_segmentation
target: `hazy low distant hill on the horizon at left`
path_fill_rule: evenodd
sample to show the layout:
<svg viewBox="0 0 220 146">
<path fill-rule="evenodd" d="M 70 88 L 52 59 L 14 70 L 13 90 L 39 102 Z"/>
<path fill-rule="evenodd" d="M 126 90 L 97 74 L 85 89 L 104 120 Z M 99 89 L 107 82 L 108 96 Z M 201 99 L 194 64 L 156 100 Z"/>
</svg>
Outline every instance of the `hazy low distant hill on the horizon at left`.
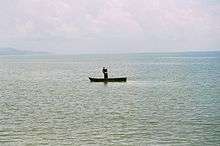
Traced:
<svg viewBox="0 0 220 146">
<path fill-rule="evenodd" d="M 48 53 L 17 50 L 14 48 L 0 48 L 0 55 L 35 55 L 35 54 L 48 54 Z"/>
</svg>

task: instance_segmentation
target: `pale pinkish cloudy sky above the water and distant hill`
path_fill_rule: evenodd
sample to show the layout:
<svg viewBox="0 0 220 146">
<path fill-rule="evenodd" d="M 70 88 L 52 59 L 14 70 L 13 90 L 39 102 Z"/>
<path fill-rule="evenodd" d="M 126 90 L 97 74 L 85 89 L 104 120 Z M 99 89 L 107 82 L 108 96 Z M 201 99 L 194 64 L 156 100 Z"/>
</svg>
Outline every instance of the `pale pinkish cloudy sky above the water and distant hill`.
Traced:
<svg viewBox="0 0 220 146">
<path fill-rule="evenodd" d="M 220 0 L 0 0 L 0 48 L 62 54 L 220 50 Z"/>
</svg>

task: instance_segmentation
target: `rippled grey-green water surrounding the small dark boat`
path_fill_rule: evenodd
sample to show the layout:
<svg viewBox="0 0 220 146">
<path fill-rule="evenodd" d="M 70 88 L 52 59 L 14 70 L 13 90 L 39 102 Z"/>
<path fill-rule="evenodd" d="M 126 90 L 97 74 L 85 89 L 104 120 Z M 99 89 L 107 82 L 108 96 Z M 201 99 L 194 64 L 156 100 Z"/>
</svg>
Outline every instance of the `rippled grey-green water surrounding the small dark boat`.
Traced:
<svg viewBox="0 0 220 146">
<path fill-rule="evenodd" d="M 72 145 L 220 145 L 220 52 L 0 56 L 0 146 Z"/>
</svg>

